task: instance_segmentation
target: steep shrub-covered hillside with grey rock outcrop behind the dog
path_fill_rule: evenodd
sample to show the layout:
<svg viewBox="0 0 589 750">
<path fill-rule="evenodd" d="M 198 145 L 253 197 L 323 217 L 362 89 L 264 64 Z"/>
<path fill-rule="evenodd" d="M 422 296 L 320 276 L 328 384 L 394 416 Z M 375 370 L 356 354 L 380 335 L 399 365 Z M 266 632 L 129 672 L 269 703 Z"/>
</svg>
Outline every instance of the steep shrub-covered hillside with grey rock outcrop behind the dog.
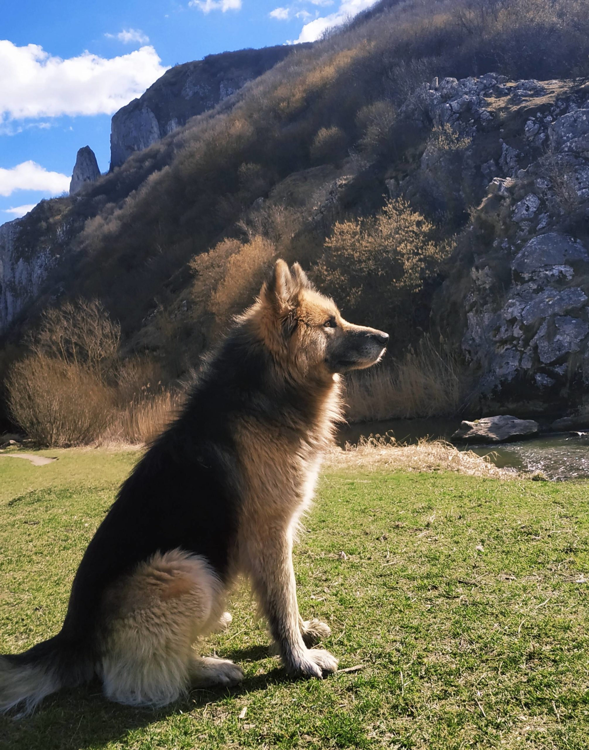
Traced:
<svg viewBox="0 0 589 750">
<path fill-rule="evenodd" d="M 451 361 L 453 408 L 582 406 L 588 55 L 581 0 L 379 3 L 2 226 L 6 359 L 82 296 L 121 322 L 121 356 L 182 377 L 280 255 L 395 333 L 389 365 L 424 341 Z"/>
</svg>

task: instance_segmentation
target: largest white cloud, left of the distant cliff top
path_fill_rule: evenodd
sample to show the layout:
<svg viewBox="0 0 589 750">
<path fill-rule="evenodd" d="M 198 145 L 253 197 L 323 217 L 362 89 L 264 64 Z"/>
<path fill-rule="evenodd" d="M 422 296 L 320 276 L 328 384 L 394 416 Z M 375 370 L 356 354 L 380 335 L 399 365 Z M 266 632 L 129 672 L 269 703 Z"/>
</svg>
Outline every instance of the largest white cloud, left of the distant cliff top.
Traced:
<svg viewBox="0 0 589 750">
<path fill-rule="evenodd" d="M 0 123 L 7 119 L 112 114 L 166 72 L 152 46 L 102 58 L 61 59 L 38 44 L 0 40 Z"/>
</svg>

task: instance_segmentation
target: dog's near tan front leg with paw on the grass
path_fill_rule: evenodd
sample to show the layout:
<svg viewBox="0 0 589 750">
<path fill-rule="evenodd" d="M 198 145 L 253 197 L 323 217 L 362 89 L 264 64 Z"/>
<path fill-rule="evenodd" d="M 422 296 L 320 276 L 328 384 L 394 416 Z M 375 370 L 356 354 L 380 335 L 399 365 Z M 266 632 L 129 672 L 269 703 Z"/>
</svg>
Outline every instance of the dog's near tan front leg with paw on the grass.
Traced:
<svg viewBox="0 0 589 750">
<path fill-rule="evenodd" d="M 307 648 L 303 640 L 289 534 L 265 535 L 249 557 L 253 586 L 286 669 L 305 677 L 335 672 L 336 658 L 324 649 Z"/>
</svg>

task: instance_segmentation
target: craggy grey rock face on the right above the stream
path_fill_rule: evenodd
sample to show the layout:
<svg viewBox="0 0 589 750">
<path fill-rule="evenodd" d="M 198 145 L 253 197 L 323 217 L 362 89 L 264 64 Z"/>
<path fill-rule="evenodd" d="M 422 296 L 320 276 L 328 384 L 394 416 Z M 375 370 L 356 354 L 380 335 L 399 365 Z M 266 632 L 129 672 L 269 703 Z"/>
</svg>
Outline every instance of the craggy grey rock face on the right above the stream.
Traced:
<svg viewBox="0 0 589 750">
<path fill-rule="evenodd" d="M 420 170 L 443 203 L 482 196 L 435 304 L 489 404 L 579 403 L 589 385 L 589 90 L 569 82 L 434 80 L 405 115 L 450 126 Z M 451 175 L 459 163 L 460 179 Z M 448 184 L 450 182 L 450 184 Z M 433 189 L 433 188 L 432 188 Z"/>
</svg>

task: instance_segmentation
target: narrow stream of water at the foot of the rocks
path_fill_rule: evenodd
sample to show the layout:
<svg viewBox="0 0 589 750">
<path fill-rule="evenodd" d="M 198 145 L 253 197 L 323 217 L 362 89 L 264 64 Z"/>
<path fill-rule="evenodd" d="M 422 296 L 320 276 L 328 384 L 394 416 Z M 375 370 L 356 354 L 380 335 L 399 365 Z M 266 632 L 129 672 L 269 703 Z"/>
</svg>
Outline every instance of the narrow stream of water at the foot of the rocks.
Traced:
<svg viewBox="0 0 589 750">
<path fill-rule="evenodd" d="M 459 428 L 459 420 L 447 419 L 392 419 L 387 422 L 366 422 L 347 425 L 339 433 L 339 443 L 357 443 L 360 436 L 390 432 L 401 443 L 416 443 L 423 437 L 444 438 Z M 533 440 L 502 443 L 498 446 L 459 445 L 459 450 L 471 450 L 489 456 L 501 468 L 521 472 L 541 471 L 550 479 L 562 481 L 589 477 L 589 432 L 546 433 Z"/>
</svg>

